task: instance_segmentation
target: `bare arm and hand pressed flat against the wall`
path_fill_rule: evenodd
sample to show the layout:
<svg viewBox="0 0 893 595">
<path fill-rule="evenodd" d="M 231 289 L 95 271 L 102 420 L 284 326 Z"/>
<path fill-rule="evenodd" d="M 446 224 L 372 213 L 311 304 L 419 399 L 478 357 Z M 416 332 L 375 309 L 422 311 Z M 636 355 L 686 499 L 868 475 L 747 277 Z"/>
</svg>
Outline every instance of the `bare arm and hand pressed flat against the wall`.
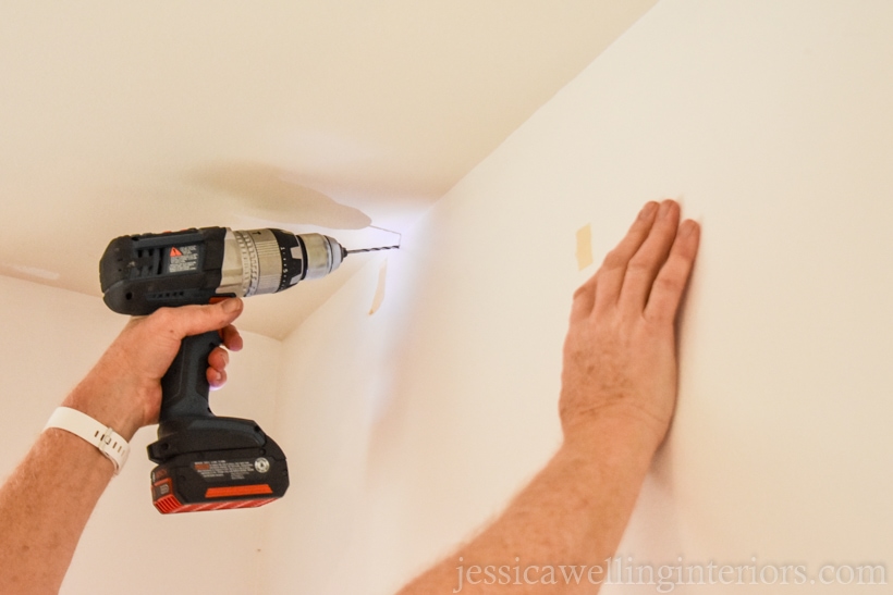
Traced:
<svg viewBox="0 0 893 595">
<path fill-rule="evenodd" d="M 574 294 L 564 446 L 502 517 L 404 595 L 598 591 L 673 416 L 674 320 L 699 237 L 694 221 L 680 225 L 672 200 L 641 209 Z M 582 566 L 585 577 L 565 574 Z"/>
</svg>

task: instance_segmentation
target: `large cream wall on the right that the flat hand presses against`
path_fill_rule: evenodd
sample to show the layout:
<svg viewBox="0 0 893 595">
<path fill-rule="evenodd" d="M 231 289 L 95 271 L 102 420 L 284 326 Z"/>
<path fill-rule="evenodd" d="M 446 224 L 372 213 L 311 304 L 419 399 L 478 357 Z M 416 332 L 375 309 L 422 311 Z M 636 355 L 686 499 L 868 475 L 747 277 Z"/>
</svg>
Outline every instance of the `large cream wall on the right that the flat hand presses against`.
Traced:
<svg viewBox="0 0 893 595">
<path fill-rule="evenodd" d="M 666 196 L 702 250 L 624 561 L 803 565 L 810 593 L 858 592 L 809 582 L 824 563 L 889 574 L 891 22 L 664 0 L 405 236 L 374 317 L 377 264 L 346 284 L 285 343 L 278 431 L 303 450 L 268 592 L 387 593 L 497 511 L 560 439 L 576 231 L 598 261 Z M 698 588 L 783 587 L 674 592 Z"/>
</svg>

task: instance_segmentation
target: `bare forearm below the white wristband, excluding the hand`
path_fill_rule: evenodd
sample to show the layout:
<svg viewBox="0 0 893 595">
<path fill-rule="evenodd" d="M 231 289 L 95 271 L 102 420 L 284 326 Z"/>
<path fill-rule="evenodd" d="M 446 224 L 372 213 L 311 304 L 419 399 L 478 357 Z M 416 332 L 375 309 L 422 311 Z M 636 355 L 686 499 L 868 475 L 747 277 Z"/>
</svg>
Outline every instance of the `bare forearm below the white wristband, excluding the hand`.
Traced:
<svg viewBox="0 0 893 595">
<path fill-rule="evenodd" d="M 57 593 L 113 466 L 59 429 L 40 434 L 0 488 L 0 593 Z"/>
</svg>

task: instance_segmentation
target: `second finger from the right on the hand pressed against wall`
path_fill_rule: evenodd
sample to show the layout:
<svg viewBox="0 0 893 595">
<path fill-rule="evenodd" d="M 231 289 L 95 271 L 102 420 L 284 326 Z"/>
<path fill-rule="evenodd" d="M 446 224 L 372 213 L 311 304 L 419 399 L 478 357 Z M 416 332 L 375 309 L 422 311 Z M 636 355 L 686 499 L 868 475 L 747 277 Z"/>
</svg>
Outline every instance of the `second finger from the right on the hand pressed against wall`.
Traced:
<svg viewBox="0 0 893 595">
<path fill-rule="evenodd" d="M 626 266 L 620 293 L 621 308 L 641 314 L 651 293 L 651 285 L 670 255 L 680 225 L 680 206 L 664 200 L 648 238 Z"/>
</svg>

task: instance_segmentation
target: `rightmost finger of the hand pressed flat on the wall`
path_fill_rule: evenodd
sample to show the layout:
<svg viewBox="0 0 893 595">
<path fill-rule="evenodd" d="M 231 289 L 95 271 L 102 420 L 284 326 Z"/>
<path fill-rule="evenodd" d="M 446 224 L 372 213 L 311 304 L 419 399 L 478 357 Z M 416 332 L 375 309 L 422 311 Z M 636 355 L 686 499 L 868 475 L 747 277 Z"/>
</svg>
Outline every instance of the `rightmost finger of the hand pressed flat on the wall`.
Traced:
<svg viewBox="0 0 893 595">
<path fill-rule="evenodd" d="M 692 275 L 692 266 L 700 244 L 700 226 L 685 221 L 676 234 L 670 257 L 661 268 L 651 287 L 645 317 L 657 322 L 672 323 L 682 299 L 682 293 Z"/>
</svg>

